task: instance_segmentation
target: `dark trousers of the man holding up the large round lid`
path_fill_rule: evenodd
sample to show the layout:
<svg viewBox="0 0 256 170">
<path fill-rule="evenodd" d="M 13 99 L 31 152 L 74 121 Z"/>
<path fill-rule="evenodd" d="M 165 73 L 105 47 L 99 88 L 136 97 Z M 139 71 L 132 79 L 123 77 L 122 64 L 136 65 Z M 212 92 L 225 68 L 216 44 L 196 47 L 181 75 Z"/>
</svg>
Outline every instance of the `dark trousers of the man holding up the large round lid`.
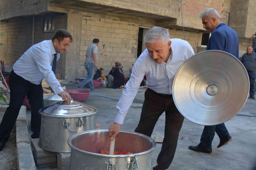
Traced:
<svg viewBox="0 0 256 170">
<path fill-rule="evenodd" d="M 157 158 L 158 165 L 154 167 L 154 170 L 164 170 L 171 165 L 184 117 L 177 110 L 172 95 L 159 94 L 152 89 L 147 89 L 141 110 L 140 122 L 135 132 L 150 137 L 158 118 L 164 111 L 164 141 Z"/>
</svg>

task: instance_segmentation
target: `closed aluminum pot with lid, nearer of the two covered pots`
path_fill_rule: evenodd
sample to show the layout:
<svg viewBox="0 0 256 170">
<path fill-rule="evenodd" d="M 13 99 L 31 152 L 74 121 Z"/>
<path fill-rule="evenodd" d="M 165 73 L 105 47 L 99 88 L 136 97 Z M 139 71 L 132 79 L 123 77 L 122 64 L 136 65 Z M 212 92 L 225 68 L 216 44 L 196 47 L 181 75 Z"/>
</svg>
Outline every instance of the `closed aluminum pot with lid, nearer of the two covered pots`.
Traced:
<svg viewBox="0 0 256 170">
<path fill-rule="evenodd" d="M 95 130 L 96 112 L 97 109 L 73 100 L 42 108 L 39 110 L 42 115 L 39 147 L 51 152 L 71 152 L 68 138 L 79 132 Z"/>
</svg>

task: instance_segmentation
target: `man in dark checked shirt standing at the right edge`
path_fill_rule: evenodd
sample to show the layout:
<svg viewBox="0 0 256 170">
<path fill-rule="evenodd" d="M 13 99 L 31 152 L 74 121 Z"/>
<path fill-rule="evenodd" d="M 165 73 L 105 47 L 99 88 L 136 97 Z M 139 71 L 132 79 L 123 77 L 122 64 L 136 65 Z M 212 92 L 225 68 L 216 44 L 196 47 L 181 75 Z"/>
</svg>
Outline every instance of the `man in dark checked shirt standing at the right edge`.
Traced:
<svg viewBox="0 0 256 170">
<path fill-rule="evenodd" d="M 253 52 L 252 46 L 247 46 L 247 53 L 242 56 L 241 62 L 243 63 L 250 80 L 250 98 L 254 97 L 254 82 L 255 82 L 255 69 L 256 69 L 256 53 Z"/>
</svg>

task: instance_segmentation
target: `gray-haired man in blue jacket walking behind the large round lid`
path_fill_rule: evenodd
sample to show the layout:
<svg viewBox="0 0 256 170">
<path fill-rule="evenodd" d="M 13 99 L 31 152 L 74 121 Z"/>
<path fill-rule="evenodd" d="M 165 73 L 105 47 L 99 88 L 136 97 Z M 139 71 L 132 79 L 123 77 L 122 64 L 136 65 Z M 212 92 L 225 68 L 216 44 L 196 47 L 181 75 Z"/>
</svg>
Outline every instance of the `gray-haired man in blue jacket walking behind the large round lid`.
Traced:
<svg viewBox="0 0 256 170">
<path fill-rule="evenodd" d="M 206 50 L 225 51 L 238 59 L 239 42 L 237 34 L 232 28 L 220 21 L 219 13 L 213 8 L 208 8 L 201 12 L 200 18 L 204 29 L 212 34 Z M 228 144 L 232 140 L 224 123 L 215 126 L 204 126 L 200 143 L 197 146 L 189 146 L 188 148 L 196 152 L 212 153 L 212 140 L 215 131 L 220 138 L 220 144 L 217 148 Z"/>
</svg>

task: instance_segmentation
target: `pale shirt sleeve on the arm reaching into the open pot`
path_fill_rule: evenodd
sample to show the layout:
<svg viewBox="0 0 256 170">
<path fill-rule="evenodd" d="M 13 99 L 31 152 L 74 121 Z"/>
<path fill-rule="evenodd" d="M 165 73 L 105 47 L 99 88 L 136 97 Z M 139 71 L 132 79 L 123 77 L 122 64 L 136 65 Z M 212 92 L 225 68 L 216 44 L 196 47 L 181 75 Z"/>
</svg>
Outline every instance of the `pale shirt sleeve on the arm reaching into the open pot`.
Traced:
<svg viewBox="0 0 256 170">
<path fill-rule="evenodd" d="M 123 90 L 123 94 L 120 97 L 116 108 L 118 109 L 115 123 L 123 124 L 124 118 L 132 105 L 132 101 L 136 96 L 138 89 L 140 88 L 140 83 L 143 80 L 145 71 L 143 71 L 142 62 L 135 62 L 135 65 L 132 69 L 132 74 L 129 81 L 126 84 L 126 89 Z"/>
</svg>

